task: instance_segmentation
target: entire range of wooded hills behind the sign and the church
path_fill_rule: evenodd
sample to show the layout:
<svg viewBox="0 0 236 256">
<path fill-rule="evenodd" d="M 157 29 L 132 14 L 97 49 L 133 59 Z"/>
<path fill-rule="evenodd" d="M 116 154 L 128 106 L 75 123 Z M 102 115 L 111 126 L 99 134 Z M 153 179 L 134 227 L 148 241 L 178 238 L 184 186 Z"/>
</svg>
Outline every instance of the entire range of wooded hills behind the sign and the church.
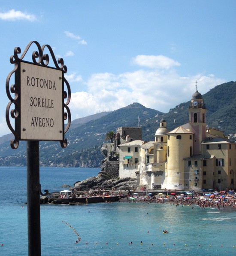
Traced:
<svg viewBox="0 0 236 256">
<path fill-rule="evenodd" d="M 206 122 L 209 127 L 223 130 L 225 134 L 236 132 L 236 82 L 227 82 L 216 86 L 203 99 L 206 104 Z M 85 120 L 74 120 L 65 134 L 67 148 L 63 149 L 59 142 L 40 142 L 40 164 L 42 166 L 64 167 L 99 167 L 103 155 L 100 148 L 106 143 L 107 131 L 116 131 L 121 126 L 137 126 L 138 116 L 142 127 L 143 140 L 154 140 L 154 134 L 164 118 L 169 131 L 188 122 L 190 101 L 181 103 L 162 113 L 146 108 L 139 103 L 127 107 L 89 116 Z M 102 113 L 101 113 L 102 114 Z M 158 116 L 157 116 L 158 114 Z M 9 134 L 0 140 L 0 165 L 26 165 L 26 143 L 20 141 L 18 149 L 11 149 Z M 4 141 L 5 140 L 5 141 Z"/>
</svg>

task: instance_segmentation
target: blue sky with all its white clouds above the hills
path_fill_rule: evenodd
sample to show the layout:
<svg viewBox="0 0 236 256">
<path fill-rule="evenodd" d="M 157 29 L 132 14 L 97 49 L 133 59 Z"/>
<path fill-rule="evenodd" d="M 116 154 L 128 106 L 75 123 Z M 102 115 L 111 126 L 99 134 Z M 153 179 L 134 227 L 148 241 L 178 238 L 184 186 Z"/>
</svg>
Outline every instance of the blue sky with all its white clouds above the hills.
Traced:
<svg viewBox="0 0 236 256">
<path fill-rule="evenodd" d="M 166 113 L 196 80 L 202 94 L 236 80 L 235 10 L 234 0 L 1 1 L 0 136 L 16 46 L 36 40 L 64 59 L 72 120 L 133 102 Z"/>
</svg>

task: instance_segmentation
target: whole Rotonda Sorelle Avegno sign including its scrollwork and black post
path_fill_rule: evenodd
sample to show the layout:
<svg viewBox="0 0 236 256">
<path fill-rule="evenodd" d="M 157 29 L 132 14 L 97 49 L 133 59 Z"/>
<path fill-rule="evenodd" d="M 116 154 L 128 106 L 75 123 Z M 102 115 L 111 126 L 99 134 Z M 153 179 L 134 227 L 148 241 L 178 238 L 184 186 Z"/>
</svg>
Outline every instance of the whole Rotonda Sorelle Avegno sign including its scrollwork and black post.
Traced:
<svg viewBox="0 0 236 256">
<path fill-rule="evenodd" d="M 32 53 L 33 62 L 23 61 L 34 44 L 37 49 Z M 44 53 L 45 49 L 50 52 L 55 67 L 48 66 L 49 55 Z M 21 57 L 18 56 L 20 53 L 21 49 L 16 47 L 10 58 L 15 68 L 6 79 L 6 94 L 10 100 L 6 107 L 6 122 L 15 136 L 11 141 L 12 149 L 18 147 L 19 140 L 27 141 L 28 254 L 40 256 L 40 195 L 47 195 L 48 191 L 42 194 L 39 183 L 39 141 L 60 141 L 62 147 L 67 146 L 64 134 L 71 122 L 68 107 L 70 85 L 64 77 L 67 67 L 62 58 L 56 61 L 51 46 L 41 47 L 38 42 L 32 41 Z M 15 84 L 9 87 L 12 74 L 15 74 Z M 64 91 L 64 84 L 67 91 Z M 12 104 L 14 108 L 10 110 Z M 15 128 L 11 125 L 9 115 L 15 119 Z M 67 127 L 64 128 L 67 119 Z"/>
</svg>

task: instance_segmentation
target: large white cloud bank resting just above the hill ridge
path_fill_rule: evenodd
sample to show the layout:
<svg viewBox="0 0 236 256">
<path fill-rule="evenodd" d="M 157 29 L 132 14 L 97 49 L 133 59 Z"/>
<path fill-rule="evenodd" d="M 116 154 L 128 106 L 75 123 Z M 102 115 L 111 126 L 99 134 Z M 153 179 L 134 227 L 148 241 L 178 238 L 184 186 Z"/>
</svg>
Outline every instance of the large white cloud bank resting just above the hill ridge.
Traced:
<svg viewBox="0 0 236 256">
<path fill-rule="evenodd" d="M 171 59 L 167 58 L 167 60 L 172 63 Z M 102 110 L 116 110 L 133 102 L 166 113 L 170 108 L 191 100 L 192 94 L 196 91 L 196 80 L 201 94 L 226 82 L 215 78 L 212 74 L 199 73 L 183 77 L 172 66 L 169 64 L 169 68 L 166 69 L 163 65 L 163 70 L 141 69 L 118 75 L 112 73 L 91 75 L 86 82 L 86 92 L 75 92 L 71 95 L 69 107 L 72 120 Z"/>
</svg>

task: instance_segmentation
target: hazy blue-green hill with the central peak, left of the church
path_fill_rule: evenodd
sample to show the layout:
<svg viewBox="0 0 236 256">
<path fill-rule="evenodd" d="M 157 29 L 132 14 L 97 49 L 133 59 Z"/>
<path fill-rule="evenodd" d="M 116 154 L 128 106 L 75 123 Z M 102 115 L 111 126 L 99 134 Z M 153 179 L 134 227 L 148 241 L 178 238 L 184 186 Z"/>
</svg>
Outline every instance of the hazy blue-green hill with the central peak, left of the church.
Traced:
<svg viewBox="0 0 236 256">
<path fill-rule="evenodd" d="M 40 165 L 99 167 L 103 155 L 100 148 L 106 143 L 107 131 L 116 131 L 120 126 L 137 126 L 160 111 L 152 110 L 139 103 L 112 111 L 111 113 L 91 120 L 79 127 L 70 128 L 65 137 L 67 148 L 61 148 L 59 142 L 41 141 Z M 0 145 L 0 165 L 26 165 L 26 142 L 20 141 L 18 149 L 11 149 L 9 141 Z"/>
</svg>

